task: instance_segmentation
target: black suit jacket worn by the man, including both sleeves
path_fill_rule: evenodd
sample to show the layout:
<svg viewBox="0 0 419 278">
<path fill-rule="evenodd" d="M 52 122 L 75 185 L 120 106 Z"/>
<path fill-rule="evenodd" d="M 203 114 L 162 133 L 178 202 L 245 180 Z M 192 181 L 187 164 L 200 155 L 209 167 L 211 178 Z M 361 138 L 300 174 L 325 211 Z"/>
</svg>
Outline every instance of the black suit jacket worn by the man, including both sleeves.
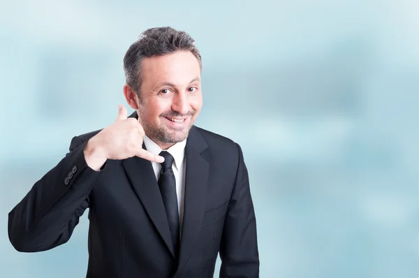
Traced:
<svg viewBox="0 0 419 278">
<path fill-rule="evenodd" d="M 239 145 L 192 127 L 176 258 L 152 163 L 135 156 L 92 170 L 83 149 L 96 133 L 73 138 L 70 152 L 9 213 L 17 251 L 64 244 L 89 207 L 87 277 L 213 277 L 218 252 L 220 277 L 258 277 L 256 219 Z"/>
</svg>

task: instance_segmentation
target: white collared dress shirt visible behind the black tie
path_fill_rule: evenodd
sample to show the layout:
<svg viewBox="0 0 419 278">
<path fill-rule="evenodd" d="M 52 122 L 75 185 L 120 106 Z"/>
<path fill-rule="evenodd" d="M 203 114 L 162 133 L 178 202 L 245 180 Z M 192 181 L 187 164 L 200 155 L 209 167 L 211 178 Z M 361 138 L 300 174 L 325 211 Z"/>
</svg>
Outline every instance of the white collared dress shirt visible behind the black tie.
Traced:
<svg viewBox="0 0 419 278">
<path fill-rule="evenodd" d="M 160 154 L 163 150 L 148 136 L 143 138 L 145 148 L 152 154 Z M 173 161 L 172 170 L 175 174 L 176 179 L 176 193 L 177 193 L 177 209 L 179 211 L 179 228 L 182 233 L 183 213 L 184 213 L 184 189 L 185 189 L 185 170 L 186 170 L 186 156 L 185 156 L 186 139 L 182 142 L 177 142 L 172 147 L 166 149 L 166 151 L 172 154 L 175 161 Z M 156 180 L 159 180 L 161 164 L 152 161 L 154 169 L 154 175 Z M 180 234 L 180 233 L 179 233 Z"/>
</svg>

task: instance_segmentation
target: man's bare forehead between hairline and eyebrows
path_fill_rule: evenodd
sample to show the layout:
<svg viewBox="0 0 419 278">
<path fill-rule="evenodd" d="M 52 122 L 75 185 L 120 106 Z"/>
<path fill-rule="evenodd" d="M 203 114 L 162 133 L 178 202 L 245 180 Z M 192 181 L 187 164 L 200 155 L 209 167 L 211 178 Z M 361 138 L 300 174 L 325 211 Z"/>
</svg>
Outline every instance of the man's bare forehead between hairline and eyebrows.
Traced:
<svg viewBox="0 0 419 278">
<path fill-rule="evenodd" d="M 174 52 L 147 57 L 142 61 L 142 85 L 154 86 L 159 82 L 185 85 L 193 78 L 200 78 L 198 59 L 191 52 Z"/>
</svg>

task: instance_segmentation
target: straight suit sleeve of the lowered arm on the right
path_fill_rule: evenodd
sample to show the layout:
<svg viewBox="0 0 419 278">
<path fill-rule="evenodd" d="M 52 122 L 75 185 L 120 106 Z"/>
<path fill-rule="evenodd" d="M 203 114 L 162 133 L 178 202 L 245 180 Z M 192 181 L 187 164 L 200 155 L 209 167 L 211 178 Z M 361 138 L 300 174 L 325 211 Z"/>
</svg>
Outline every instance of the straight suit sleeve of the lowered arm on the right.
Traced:
<svg viewBox="0 0 419 278">
<path fill-rule="evenodd" d="M 220 278 L 259 277 L 256 217 L 249 175 L 239 145 L 239 162 L 220 245 Z"/>
</svg>

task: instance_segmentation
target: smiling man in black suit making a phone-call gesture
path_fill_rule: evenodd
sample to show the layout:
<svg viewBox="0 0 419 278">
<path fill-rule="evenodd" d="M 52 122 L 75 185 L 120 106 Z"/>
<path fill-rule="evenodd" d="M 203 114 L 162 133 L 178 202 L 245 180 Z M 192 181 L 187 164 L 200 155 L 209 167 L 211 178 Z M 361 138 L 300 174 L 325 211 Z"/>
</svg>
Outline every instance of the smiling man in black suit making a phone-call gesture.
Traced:
<svg viewBox="0 0 419 278">
<path fill-rule="evenodd" d="M 256 218 L 242 150 L 193 125 L 201 57 L 184 31 L 145 31 L 124 57 L 135 112 L 76 136 L 9 214 L 17 251 L 67 242 L 89 207 L 87 277 L 258 277 Z"/>
</svg>

